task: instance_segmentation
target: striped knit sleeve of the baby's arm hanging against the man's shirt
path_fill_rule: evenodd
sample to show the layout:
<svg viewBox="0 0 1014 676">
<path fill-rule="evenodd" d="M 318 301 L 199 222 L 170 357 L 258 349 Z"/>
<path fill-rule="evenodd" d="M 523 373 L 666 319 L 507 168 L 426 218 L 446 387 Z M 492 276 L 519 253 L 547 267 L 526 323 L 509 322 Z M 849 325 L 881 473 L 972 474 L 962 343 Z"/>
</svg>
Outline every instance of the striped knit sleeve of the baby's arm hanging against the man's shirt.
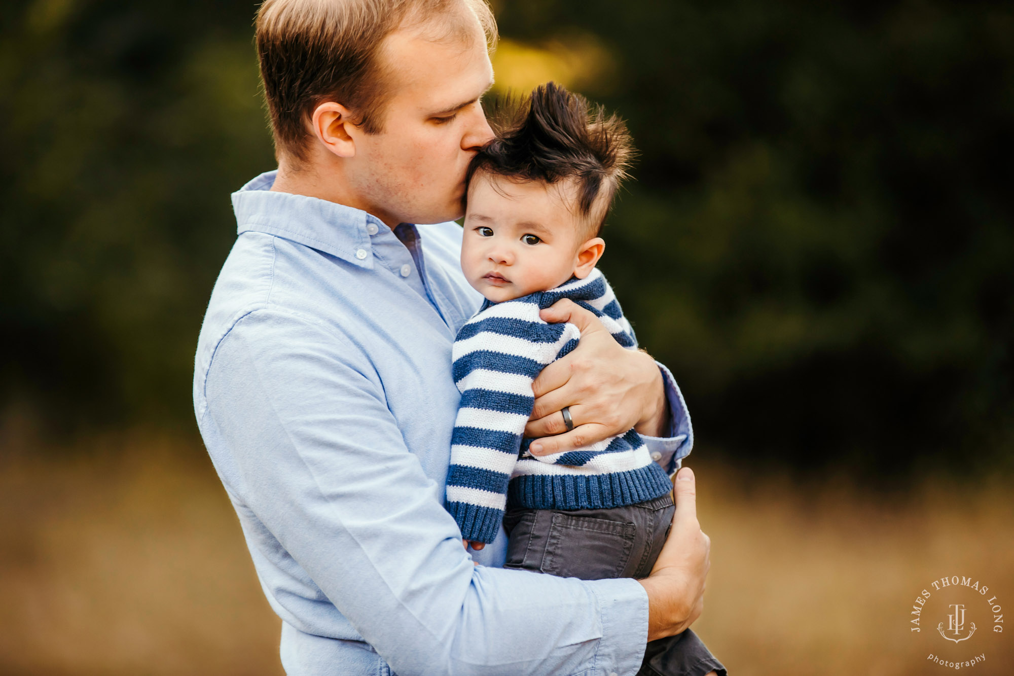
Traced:
<svg viewBox="0 0 1014 676">
<path fill-rule="evenodd" d="M 454 343 L 453 375 L 461 391 L 450 468 L 447 511 L 461 537 L 493 542 L 507 501 L 534 397 L 531 383 L 552 361 L 556 334 L 538 320 L 538 306 L 519 299 L 494 306 L 462 327 Z"/>
</svg>

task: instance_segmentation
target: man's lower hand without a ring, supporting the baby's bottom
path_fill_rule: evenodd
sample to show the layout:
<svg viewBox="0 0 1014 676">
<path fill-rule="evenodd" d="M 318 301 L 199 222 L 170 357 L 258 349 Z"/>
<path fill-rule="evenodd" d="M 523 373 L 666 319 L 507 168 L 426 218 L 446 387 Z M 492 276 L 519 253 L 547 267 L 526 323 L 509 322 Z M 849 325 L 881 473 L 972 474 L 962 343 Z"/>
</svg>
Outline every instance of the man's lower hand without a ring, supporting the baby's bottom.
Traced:
<svg viewBox="0 0 1014 676">
<path fill-rule="evenodd" d="M 697 485 L 689 467 L 676 474 L 675 494 L 672 530 L 651 574 L 639 581 L 648 592 L 648 640 L 681 632 L 704 610 L 711 538 L 698 522 Z"/>
</svg>

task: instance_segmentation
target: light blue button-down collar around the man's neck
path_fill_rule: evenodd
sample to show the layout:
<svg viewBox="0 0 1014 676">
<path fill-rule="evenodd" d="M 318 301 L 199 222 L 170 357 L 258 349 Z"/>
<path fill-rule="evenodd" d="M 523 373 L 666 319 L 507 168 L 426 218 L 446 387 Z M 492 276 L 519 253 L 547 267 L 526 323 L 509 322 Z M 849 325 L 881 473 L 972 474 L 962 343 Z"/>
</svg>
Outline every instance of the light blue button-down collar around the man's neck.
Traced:
<svg viewBox="0 0 1014 676">
<path fill-rule="evenodd" d="M 266 232 L 373 268 L 370 226 L 376 227 L 374 232 L 389 231 L 389 227 L 361 209 L 305 195 L 273 193 L 277 175 L 277 170 L 266 172 L 232 193 L 238 234 Z"/>
</svg>

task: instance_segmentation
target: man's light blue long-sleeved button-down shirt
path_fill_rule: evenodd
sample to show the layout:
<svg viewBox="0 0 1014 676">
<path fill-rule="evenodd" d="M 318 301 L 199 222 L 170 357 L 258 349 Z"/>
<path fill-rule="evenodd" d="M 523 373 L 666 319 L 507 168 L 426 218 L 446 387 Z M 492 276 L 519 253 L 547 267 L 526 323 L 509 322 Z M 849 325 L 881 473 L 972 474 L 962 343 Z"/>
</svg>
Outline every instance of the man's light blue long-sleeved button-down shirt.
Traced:
<svg viewBox="0 0 1014 676">
<path fill-rule="evenodd" d="M 194 405 L 282 618 L 289 674 L 634 674 L 633 580 L 473 565 L 443 508 L 459 393 L 451 344 L 482 300 L 455 223 L 403 224 L 270 192 L 232 196 L 239 236 L 198 344 Z M 664 371 L 664 369 L 663 369 Z M 667 373 L 668 469 L 693 434 Z"/>
</svg>

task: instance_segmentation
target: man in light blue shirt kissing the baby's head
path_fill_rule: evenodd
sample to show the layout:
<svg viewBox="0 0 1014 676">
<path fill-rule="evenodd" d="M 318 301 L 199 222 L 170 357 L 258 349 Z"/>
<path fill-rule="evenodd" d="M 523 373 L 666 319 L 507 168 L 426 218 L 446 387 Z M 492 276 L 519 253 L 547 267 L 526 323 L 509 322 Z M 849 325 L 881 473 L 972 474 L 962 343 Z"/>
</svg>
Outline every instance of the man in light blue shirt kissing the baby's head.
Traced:
<svg viewBox="0 0 1014 676">
<path fill-rule="evenodd" d="M 268 0 L 257 30 L 279 170 L 233 195 L 239 238 L 201 331 L 194 398 L 283 620 L 287 672 L 637 672 L 646 640 L 701 612 L 709 542 L 689 470 L 642 581 L 502 569 L 502 532 L 474 566 L 442 506 L 450 348 L 480 300 L 448 221 L 492 138 L 488 7 Z M 573 303 L 545 312 L 597 321 Z M 594 368 L 602 359 L 610 373 Z M 632 426 L 665 466 L 689 452 L 678 390 L 646 354 L 592 332 L 553 366 L 533 386 L 533 452 Z M 559 433 L 566 406 L 575 428 Z"/>
</svg>

